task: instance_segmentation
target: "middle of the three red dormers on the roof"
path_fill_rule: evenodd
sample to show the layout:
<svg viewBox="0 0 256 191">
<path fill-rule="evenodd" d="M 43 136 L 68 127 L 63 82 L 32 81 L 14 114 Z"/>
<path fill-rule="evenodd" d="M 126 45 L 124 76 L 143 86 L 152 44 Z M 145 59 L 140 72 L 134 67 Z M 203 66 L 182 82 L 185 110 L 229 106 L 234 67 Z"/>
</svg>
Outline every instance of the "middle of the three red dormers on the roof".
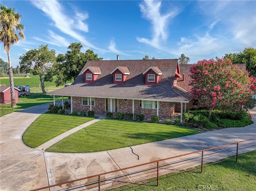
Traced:
<svg viewBox="0 0 256 191">
<path fill-rule="evenodd" d="M 130 71 L 127 67 L 118 66 L 110 74 L 113 74 L 114 84 L 123 84 L 127 75 L 130 74 Z"/>
</svg>

